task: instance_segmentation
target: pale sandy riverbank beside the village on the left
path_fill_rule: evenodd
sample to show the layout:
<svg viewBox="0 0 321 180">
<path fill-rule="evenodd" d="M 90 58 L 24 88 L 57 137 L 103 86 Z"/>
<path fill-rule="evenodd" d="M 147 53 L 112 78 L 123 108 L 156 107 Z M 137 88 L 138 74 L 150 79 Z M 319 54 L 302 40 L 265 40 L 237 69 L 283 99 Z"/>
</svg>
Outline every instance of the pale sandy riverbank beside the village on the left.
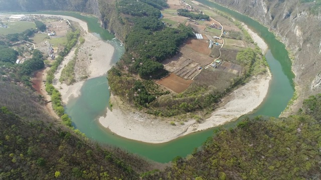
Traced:
<svg viewBox="0 0 321 180">
<path fill-rule="evenodd" d="M 114 47 L 106 41 L 99 39 L 92 33 L 88 33 L 88 26 L 85 21 L 80 19 L 65 16 L 65 15 L 48 15 L 48 14 L 36 14 L 44 16 L 58 16 L 64 19 L 69 19 L 79 23 L 79 26 L 85 31 L 83 38 L 85 42 L 79 47 L 80 51 L 86 55 L 81 55 L 78 58 L 77 63 L 82 63 L 82 66 L 86 66 L 88 71 L 87 79 L 98 77 L 107 73 L 107 71 L 112 67 L 111 57 L 114 52 Z M 73 48 L 69 54 L 64 58 L 62 63 L 59 65 L 58 70 L 55 73 L 55 78 L 53 85 L 59 90 L 62 95 L 62 101 L 68 103 L 69 98 L 77 97 L 80 95 L 80 89 L 86 79 L 79 80 L 72 85 L 67 85 L 59 81 L 62 69 L 67 65 L 67 63 L 75 55 L 75 48 Z M 80 62 L 82 58 L 82 62 Z M 76 74 L 77 76 L 77 74 Z"/>
</svg>

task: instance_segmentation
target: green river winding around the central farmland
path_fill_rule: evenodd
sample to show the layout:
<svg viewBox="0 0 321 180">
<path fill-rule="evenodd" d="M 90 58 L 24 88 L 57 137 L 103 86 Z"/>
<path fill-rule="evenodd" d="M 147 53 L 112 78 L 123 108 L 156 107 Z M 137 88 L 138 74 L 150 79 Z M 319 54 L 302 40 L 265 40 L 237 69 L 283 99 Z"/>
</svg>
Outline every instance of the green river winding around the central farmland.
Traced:
<svg viewBox="0 0 321 180">
<path fill-rule="evenodd" d="M 264 100 L 264 102 L 253 114 L 251 114 L 251 116 L 278 116 L 284 110 L 287 102 L 294 92 L 292 81 L 294 74 L 291 71 L 291 62 L 288 58 L 284 44 L 277 41 L 273 33 L 269 32 L 266 27 L 253 19 L 222 6 L 217 6 L 217 4 L 206 0 L 198 1 L 214 8 L 217 7 L 219 10 L 229 13 L 238 20 L 245 22 L 267 42 L 270 49 L 267 51 L 265 57 L 272 72 L 271 84 L 266 100 Z M 112 63 L 115 63 L 124 52 L 121 43 L 116 39 L 112 39 L 114 36 L 107 30 L 101 28 L 100 24 L 97 22 L 98 19 L 95 17 L 83 16 L 73 12 L 41 11 L 37 13 L 68 15 L 86 21 L 90 32 L 99 35 L 102 40 L 107 40 L 115 47 Z M 81 88 L 81 95 L 70 100 L 66 105 L 65 110 L 72 118 L 73 125 L 80 131 L 84 132 L 89 138 L 100 143 L 108 143 L 122 147 L 130 152 L 140 154 L 148 159 L 158 162 L 171 161 L 178 155 L 186 156 L 195 148 L 201 146 L 208 137 L 213 135 L 213 130 L 218 128 L 215 127 L 191 133 L 170 142 L 160 144 L 135 141 L 113 134 L 108 129 L 100 125 L 98 117 L 105 115 L 108 101 L 108 82 L 106 76 L 100 76 L 87 80 Z M 223 127 L 233 127 L 238 123 L 238 121 L 239 120 L 227 123 L 223 125 Z"/>
</svg>

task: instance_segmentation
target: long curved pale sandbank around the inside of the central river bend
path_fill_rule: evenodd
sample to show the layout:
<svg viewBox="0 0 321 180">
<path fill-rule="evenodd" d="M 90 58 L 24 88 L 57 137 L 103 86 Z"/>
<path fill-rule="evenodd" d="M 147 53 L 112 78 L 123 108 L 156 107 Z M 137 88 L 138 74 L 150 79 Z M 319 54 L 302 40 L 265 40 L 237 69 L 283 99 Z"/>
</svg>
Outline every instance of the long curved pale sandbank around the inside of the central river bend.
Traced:
<svg viewBox="0 0 321 180">
<path fill-rule="evenodd" d="M 264 40 L 247 26 L 245 28 L 265 54 L 268 46 Z M 263 102 L 272 77 L 269 68 L 266 68 L 266 74 L 252 77 L 245 85 L 228 94 L 221 105 L 202 123 L 196 123 L 193 119 L 183 125 L 171 125 L 169 121 L 162 120 L 162 117 L 126 111 L 119 108 L 121 101 L 112 94 L 110 100 L 113 109 L 107 107 L 107 113 L 99 117 L 99 123 L 112 133 L 147 143 L 164 143 L 192 132 L 212 128 L 253 111 Z"/>
</svg>

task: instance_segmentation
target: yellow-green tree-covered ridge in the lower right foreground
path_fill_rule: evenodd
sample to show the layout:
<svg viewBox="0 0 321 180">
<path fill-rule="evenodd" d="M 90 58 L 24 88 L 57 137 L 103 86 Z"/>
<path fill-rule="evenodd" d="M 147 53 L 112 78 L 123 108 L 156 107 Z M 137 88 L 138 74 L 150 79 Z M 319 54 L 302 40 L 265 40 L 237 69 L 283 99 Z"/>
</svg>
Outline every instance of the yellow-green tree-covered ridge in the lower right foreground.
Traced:
<svg viewBox="0 0 321 180">
<path fill-rule="evenodd" d="M 321 94 L 297 115 L 245 118 L 220 129 L 201 150 L 144 179 L 318 179 L 321 175 Z M 196 178 L 197 179 L 197 178 Z"/>
</svg>

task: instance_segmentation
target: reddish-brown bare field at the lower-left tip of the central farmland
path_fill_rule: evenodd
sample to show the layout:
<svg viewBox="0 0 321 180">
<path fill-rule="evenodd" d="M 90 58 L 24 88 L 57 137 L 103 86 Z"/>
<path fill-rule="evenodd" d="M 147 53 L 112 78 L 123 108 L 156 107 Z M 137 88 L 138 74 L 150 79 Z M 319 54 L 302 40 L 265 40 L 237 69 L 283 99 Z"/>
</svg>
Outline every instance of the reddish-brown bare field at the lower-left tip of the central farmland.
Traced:
<svg viewBox="0 0 321 180">
<path fill-rule="evenodd" d="M 164 85 L 165 87 L 173 90 L 176 93 L 183 92 L 187 87 L 191 85 L 192 82 L 193 80 L 184 79 L 174 73 L 171 73 L 169 76 L 157 81 L 158 84 Z"/>
</svg>

